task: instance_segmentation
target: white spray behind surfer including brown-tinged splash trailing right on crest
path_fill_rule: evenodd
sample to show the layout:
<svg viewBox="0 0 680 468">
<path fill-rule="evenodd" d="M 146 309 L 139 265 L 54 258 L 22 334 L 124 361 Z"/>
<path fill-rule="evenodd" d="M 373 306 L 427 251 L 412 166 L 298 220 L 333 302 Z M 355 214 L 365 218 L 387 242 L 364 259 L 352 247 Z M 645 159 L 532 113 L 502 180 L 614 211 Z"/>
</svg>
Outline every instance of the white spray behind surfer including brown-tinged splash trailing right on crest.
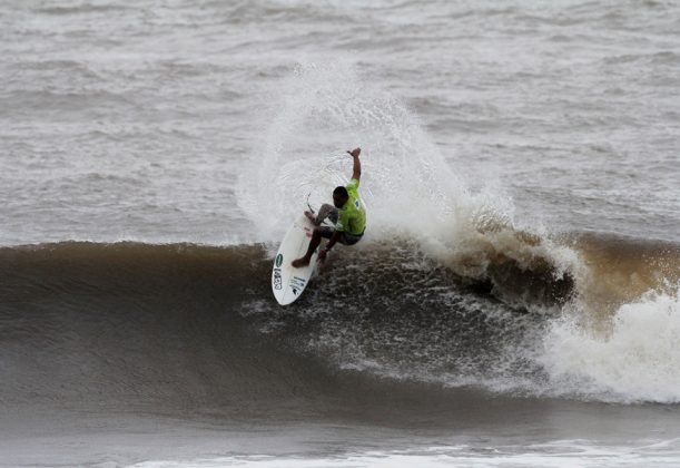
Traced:
<svg viewBox="0 0 680 468">
<path fill-rule="evenodd" d="M 368 218 L 358 248 L 415 241 L 457 274 L 482 280 L 499 259 L 520 270 L 542 262 L 556 277 L 573 265 L 569 248 L 518 227 L 513 201 L 497 181 L 480 177 L 471 191 L 417 116 L 352 64 L 299 65 L 276 91 L 266 110 L 270 126 L 237 191 L 262 241 L 277 243 L 307 197 L 317 206 L 327 202 L 352 172 L 344 149 L 359 145 Z"/>
</svg>

